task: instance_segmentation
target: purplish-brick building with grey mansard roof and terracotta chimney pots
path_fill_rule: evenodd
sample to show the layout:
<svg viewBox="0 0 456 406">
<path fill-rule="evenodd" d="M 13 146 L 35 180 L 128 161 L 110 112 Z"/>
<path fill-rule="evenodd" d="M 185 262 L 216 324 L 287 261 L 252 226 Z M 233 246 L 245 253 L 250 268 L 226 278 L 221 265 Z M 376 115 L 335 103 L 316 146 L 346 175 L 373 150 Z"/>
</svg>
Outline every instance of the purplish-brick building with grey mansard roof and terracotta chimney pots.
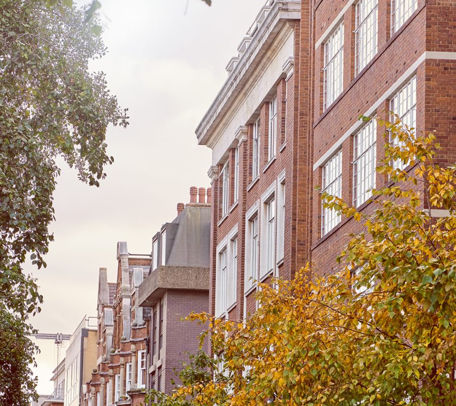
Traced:
<svg viewBox="0 0 456 406">
<path fill-rule="evenodd" d="M 198 194 L 198 201 L 197 201 Z M 177 217 L 152 239 L 150 273 L 139 287 L 137 303 L 148 309 L 148 388 L 170 393 L 188 353 L 199 348 L 205 329 L 183 321 L 208 311 L 210 189 L 190 188 L 190 202 L 177 205 Z"/>
</svg>

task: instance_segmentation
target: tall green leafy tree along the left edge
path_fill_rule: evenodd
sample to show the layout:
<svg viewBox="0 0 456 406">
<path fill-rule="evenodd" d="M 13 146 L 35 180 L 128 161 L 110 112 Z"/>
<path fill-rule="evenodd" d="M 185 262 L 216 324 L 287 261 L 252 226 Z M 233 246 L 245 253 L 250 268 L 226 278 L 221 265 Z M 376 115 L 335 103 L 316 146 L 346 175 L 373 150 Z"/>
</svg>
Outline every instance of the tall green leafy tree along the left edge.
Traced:
<svg viewBox="0 0 456 406">
<path fill-rule="evenodd" d="M 104 74 L 88 70 L 89 60 L 106 51 L 93 30 L 96 16 L 87 21 L 71 1 L 53 3 L 0 0 L 2 406 L 25 404 L 34 393 L 28 366 L 34 347 L 24 338 L 31 332 L 24 320 L 40 311 L 43 297 L 23 264 L 30 256 L 38 268 L 46 267 L 60 172 L 56 159 L 75 167 L 81 181 L 99 186 L 104 167 L 113 162 L 106 154 L 106 128 L 128 124 Z M 9 340 L 7 325 L 21 339 Z"/>
</svg>

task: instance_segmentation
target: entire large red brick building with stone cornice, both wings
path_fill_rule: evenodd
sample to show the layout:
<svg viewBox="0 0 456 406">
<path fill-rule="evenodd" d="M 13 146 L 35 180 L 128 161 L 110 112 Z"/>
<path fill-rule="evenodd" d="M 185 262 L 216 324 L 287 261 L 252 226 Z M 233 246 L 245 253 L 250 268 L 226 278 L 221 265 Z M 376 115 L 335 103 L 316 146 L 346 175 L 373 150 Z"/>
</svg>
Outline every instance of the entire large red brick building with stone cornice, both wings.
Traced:
<svg viewBox="0 0 456 406">
<path fill-rule="evenodd" d="M 391 110 L 436 129 L 437 160 L 456 160 L 455 32 L 453 1 L 271 0 L 260 10 L 196 130 L 212 149 L 213 314 L 254 312 L 252 278 L 291 278 L 310 259 L 321 275 L 337 269 L 360 225 L 323 210 L 314 187 L 368 212 L 371 188 L 387 182 L 375 172 L 384 129 L 361 114 Z"/>
</svg>

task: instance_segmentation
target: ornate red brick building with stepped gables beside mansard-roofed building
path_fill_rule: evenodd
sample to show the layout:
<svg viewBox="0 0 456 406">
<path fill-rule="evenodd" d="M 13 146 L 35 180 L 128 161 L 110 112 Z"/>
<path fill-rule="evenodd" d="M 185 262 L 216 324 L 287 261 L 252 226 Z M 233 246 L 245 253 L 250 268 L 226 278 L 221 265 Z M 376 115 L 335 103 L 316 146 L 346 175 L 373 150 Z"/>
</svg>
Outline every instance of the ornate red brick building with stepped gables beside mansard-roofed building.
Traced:
<svg viewBox="0 0 456 406">
<path fill-rule="evenodd" d="M 149 273 L 151 257 L 130 254 L 127 243 L 119 242 L 117 260 L 116 282 L 107 282 L 107 270 L 100 268 L 97 367 L 86 385 L 85 406 L 144 403 L 149 324 L 137 292 Z"/>
</svg>

